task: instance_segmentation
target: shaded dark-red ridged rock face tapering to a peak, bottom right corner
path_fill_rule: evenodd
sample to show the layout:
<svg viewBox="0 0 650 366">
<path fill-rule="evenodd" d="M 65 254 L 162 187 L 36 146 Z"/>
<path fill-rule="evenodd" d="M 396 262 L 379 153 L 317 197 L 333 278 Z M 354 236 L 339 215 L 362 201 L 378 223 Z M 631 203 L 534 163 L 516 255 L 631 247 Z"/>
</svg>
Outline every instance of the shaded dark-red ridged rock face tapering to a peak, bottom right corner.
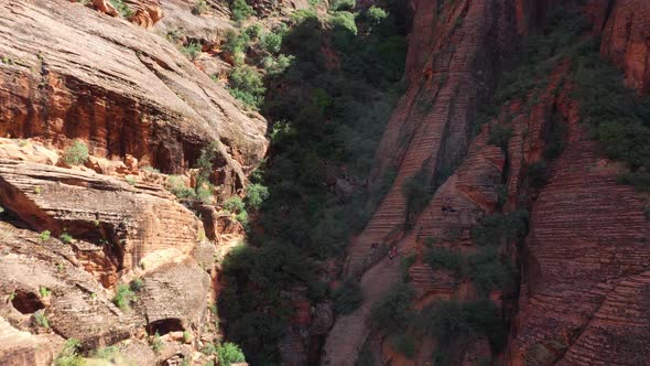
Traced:
<svg viewBox="0 0 650 366">
<path fill-rule="evenodd" d="M 510 364 L 647 364 L 650 225 L 644 200 L 617 184 L 621 166 L 588 139 L 568 95 L 564 90 L 545 107 L 566 121 L 567 146 L 532 205 Z M 542 123 L 551 119 L 538 116 Z M 534 125 L 529 127 L 534 133 Z M 517 141 L 511 141 L 513 151 L 521 150 Z M 534 149 L 529 151 L 523 159 L 539 159 Z"/>
</svg>

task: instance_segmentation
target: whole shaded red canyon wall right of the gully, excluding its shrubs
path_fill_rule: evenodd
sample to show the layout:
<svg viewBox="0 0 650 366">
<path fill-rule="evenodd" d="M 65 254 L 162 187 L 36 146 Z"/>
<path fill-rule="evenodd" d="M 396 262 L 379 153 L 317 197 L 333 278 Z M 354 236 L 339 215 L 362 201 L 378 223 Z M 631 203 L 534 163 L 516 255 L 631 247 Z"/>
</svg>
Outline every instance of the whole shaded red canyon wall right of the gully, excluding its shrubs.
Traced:
<svg viewBox="0 0 650 366">
<path fill-rule="evenodd" d="M 409 282 L 418 293 L 415 309 L 437 300 L 472 301 L 479 295 L 467 278 L 458 281 L 452 272 L 429 266 L 425 239 L 472 255 L 479 249 L 473 230 L 481 218 L 526 209 L 528 236 L 519 243 L 510 239 L 500 249 L 520 263 L 519 298 L 506 299 L 500 291 L 488 294 L 503 320 L 512 319 L 508 344 L 500 354 L 491 354 L 479 337 L 456 362 L 646 364 L 648 197 L 617 183 L 625 166 L 607 159 L 589 138 L 567 80 L 568 63 L 555 66 L 544 76 L 546 84 L 538 83 L 523 98 L 497 106 L 499 117 L 476 138 L 469 132 L 500 73 L 512 67 L 517 57 L 510 52 L 532 42 L 562 3 L 410 3 L 414 17 L 404 76 L 409 88 L 378 149 L 371 180 L 379 181 L 390 169 L 398 174 L 364 233 L 350 244 L 345 273 L 359 277 L 365 300 L 355 313 L 337 319 L 322 363 L 353 365 L 364 344 L 375 349 L 376 360 L 398 365 L 425 364 L 435 353 L 435 340 L 419 340 L 419 352 L 409 359 L 371 331 L 372 308 L 403 276 L 398 261 L 368 260 L 372 243 L 396 246 L 403 258 L 414 256 Z M 621 68 L 630 88 L 644 94 L 650 50 L 647 2 L 587 1 L 579 9 L 602 40 L 602 56 Z M 550 131 L 557 123 L 567 128 L 566 147 L 549 162 L 549 183 L 533 187 L 533 170 L 551 148 Z M 497 125 L 512 128 L 503 149 L 487 141 Z M 433 182 L 435 194 L 413 220 L 404 185 L 419 172 Z"/>
</svg>

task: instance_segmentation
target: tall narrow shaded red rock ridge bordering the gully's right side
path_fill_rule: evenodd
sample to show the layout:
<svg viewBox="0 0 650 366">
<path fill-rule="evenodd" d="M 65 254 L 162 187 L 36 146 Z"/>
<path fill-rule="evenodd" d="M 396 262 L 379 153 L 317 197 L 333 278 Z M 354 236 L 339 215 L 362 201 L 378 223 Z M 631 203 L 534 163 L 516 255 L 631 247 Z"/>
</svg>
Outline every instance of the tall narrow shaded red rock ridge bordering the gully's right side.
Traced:
<svg viewBox="0 0 650 366">
<path fill-rule="evenodd" d="M 397 177 L 364 233 L 350 245 L 346 276 L 367 266 L 372 243 L 394 243 L 410 250 L 412 238 L 398 243 L 408 207 L 404 183 L 422 172 L 427 181 L 448 174 L 465 154 L 469 126 L 494 87 L 494 75 L 514 29 L 510 1 L 412 1 L 413 33 L 409 37 L 407 79 L 377 152 L 379 179 L 390 168 Z M 445 173 L 447 172 L 447 173 Z M 372 305 L 401 278 L 398 261 L 380 260 L 361 277 L 365 302 L 340 316 L 331 331 L 322 363 L 353 365 L 368 335 Z"/>
</svg>

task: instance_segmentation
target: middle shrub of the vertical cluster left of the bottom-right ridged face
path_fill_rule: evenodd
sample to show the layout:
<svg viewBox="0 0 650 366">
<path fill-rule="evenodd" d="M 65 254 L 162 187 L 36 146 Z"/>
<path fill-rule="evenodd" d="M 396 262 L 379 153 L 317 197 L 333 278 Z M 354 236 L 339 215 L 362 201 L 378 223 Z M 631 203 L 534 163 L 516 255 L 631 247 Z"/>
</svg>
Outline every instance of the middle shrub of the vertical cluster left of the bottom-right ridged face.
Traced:
<svg viewBox="0 0 650 366">
<path fill-rule="evenodd" d="M 494 247 L 485 247 L 467 258 L 467 274 L 483 295 L 506 290 L 512 283 L 512 266 Z"/>
</svg>

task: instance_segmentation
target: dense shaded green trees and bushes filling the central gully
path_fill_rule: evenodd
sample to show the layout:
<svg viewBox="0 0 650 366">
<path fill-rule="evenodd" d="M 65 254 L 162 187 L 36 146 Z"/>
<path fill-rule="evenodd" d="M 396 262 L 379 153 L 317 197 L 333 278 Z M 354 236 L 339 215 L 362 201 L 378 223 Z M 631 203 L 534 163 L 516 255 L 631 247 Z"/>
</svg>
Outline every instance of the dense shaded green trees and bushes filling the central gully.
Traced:
<svg viewBox="0 0 650 366">
<path fill-rule="evenodd" d="M 249 243 L 224 261 L 229 283 L 219 314 L 249 360 L 269 365 L 279 363 L 278 341 L 293 309 L 283 291 L 304 286 L 311 300 L 329 295 L 339 313 L 360 302 L 351 283 L 327 293 L 316 268 L 362 229 L 386 183 L 337 195 L 326 182 L 344 170 L 351 182 L 368 175 L 399 94 L 405 43 L 388 14 L 370 24 L 353 13 L 318 19 L 313 11 L 259 39 L 269 65 L 284 65 L 266 74 L 259 107 L 274 121 L 270 158 L 252 175 L 243 207 L 234 207 L 248 212 Z"/>
</svg>

